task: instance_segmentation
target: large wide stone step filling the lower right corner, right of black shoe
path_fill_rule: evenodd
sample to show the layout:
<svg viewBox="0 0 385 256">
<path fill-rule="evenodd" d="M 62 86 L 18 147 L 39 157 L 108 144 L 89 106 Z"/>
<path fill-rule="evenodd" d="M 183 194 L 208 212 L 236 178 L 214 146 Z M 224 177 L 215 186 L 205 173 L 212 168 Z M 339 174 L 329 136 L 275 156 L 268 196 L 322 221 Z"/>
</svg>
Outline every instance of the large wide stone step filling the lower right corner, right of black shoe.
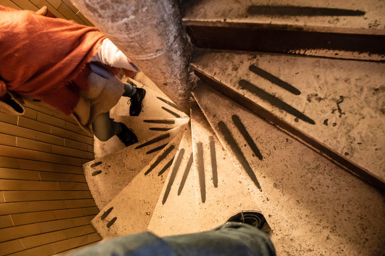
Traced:
<svg viewBox="0 0 385 256">
<path fill-rule="evenodd" d="M 383 192 L 215 90 L 193 94 L 273 229 L 278 255 L 383 253 Z"/>
</svg>

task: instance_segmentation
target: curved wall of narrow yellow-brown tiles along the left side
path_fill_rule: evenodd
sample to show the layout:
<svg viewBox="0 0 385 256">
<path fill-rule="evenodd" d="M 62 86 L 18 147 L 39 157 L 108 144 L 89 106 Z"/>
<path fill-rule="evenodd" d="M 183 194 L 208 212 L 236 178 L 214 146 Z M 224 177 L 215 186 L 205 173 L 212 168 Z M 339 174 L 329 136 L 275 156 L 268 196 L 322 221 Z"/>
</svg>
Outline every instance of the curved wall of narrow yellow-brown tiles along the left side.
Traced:
<svg viewBox="0 0 385 256">
<path fill-rule="evenodd" d="M 92 25 L 69 0 L 0 0 Z M 0 114 L 0 255 L 52 255 L 101 239 L 90 221 L 99 212 L 82 164 L 93 138 L 59 111 L 27 105 L 23 116 Z"/>
</svg>

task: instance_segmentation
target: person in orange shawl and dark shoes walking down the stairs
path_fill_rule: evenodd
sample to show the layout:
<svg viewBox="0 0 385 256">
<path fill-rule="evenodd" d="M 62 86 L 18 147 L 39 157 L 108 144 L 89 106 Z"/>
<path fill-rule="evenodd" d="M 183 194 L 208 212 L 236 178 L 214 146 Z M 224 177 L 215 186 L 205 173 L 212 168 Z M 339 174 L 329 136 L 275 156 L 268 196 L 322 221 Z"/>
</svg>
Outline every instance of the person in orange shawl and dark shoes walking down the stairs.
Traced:
<svg viewBox="0 0 385 256">
<path fill-rule="evenodd" d="M 115 75 L 139 69 L 95 27 L 0 5 L 0 111 L 24 113 L 24 102 L 42 101 L 72 115 L 106 141 L 114 135 L 137 142 L 123 123 L 109 118 L 120 97 L 131 98 L 130 115 L 139 115 L 145 90 Z M 41 15 L 42 14 L 42 15 Z"/>
</svg>

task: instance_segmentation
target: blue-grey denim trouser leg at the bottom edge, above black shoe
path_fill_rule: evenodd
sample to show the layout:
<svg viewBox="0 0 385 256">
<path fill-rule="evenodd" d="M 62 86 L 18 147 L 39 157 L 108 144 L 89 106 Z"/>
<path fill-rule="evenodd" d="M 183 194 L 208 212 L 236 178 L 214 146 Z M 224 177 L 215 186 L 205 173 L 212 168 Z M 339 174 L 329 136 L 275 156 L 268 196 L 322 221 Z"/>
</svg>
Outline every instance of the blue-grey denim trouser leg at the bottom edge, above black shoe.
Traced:
<svg viewBox="0 0 385 256">
<path fill-rule="evenodd" d="M 124 256 L 273 256 L 274 245 L 261 230 L 229 222 L 210 231 L 157 237 L 150 232 L 126 235 L 85 247 L 70 255 Z"/>
</svg>

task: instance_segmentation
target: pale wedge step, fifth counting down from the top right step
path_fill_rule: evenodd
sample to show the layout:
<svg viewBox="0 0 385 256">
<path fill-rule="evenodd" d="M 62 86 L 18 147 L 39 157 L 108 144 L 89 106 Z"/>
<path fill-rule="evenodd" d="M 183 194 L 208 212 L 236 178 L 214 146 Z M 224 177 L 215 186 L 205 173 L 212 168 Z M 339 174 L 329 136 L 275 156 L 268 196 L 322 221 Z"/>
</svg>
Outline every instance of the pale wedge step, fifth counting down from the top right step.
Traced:
<svg viewBox="0 0 385 256">
<path fill-rule="evenodd" d="M 158 236 L 199 231 L 193 158 L 191 127 L 188 126 L 148 224 L 148 230 Z"/>
</svg>

